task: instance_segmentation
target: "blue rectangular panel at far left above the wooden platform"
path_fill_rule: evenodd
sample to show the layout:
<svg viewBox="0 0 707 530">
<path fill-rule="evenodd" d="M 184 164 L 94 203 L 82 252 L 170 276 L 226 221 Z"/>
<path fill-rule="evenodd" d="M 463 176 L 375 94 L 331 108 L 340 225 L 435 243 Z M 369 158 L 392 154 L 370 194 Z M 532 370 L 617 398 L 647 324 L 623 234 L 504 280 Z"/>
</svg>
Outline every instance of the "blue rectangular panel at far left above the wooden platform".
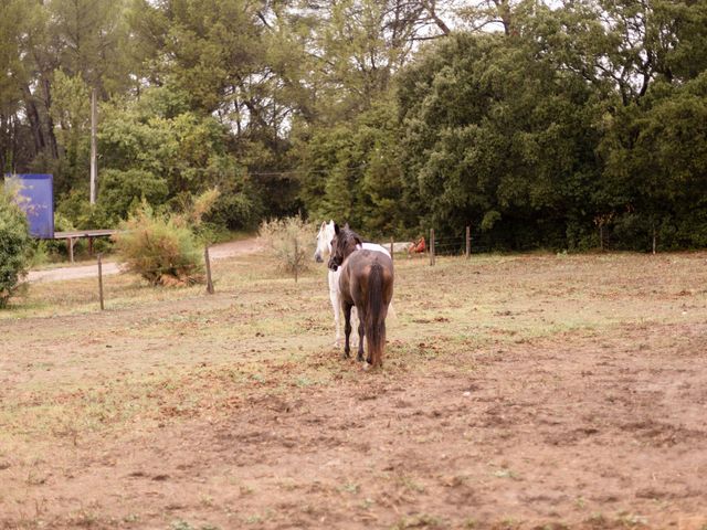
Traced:
<svg viewBox="0 0 707 530">
<path fill-rule="evenodd" d="M 54 237 L 54 186 L 51 174 L 7 176 L 20 184 L 20 208 L 27 213 L 30 234 L 34 237 Z M 6 186 L 8 180 L 6 180 Z"/>
</svg>

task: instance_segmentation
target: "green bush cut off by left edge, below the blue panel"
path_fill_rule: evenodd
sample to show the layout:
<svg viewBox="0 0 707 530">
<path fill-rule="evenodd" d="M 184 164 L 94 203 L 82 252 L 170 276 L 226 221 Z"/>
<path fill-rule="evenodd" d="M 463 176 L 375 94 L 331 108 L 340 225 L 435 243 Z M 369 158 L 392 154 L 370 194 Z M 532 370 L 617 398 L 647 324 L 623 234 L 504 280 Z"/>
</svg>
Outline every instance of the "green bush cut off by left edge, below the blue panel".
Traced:
<svg viewBox="0 0 707 530">
<path fill-rule="evenodd" d="M 10 193 L 0 189 L 0 308 L 7 306 L 27 274 L 31 244 L 24 213 Z"/>
</svg>

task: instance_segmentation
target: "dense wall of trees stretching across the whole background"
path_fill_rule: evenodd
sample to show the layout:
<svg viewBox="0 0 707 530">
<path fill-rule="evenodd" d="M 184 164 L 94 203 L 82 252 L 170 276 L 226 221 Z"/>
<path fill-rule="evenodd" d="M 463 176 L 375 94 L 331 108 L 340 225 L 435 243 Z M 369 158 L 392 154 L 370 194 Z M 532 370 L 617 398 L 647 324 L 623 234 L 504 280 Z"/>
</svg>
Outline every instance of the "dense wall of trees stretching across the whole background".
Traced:
<svg viewBox="0 0 707 530">
<path fill-rule="evenodd" d="M 4 0 L 0 35 L 0 166 L 76 227 L 215 187 L 230 230 L 707 244 L 704 1 Z"/>
</svg>

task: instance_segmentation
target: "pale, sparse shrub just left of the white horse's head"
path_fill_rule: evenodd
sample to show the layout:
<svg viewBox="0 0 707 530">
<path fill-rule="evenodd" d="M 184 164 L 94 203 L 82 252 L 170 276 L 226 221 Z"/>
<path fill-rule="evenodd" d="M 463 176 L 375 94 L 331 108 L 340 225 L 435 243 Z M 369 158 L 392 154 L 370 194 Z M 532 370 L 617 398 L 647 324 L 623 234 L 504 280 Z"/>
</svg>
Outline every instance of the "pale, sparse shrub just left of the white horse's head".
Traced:
<svg viewBox="0 0 707 530">
<path fill-rule="evenodd" d="M 299 216 L 263 221 L 260 229 L 260 236 L 277 259 L 279 269 L 294 274 L 295 282 L 309 264 L 315 234 L 314 226 Z"/>
</svg>

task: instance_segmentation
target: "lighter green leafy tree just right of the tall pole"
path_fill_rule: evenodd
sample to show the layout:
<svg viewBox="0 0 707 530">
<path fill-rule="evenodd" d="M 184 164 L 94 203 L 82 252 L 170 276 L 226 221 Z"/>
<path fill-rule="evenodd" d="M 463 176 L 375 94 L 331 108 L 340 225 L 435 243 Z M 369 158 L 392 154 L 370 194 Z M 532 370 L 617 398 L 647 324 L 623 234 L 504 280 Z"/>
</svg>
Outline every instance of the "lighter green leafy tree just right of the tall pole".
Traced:
<svg viewBox="0 0 707 530">
<path fill-rule="evenodd" d="M 226 129 L 212 116 L 190 110 L 188 99 L 183 92 L 161 87 L 146 91 L 139 102 L 103 106 L 98 206 L 109 222 L 126 219 L 143 200 L 156 208 L 180 206 L 211 188 L 222 191 L 215 206 L 222 222 L 231 227 L 256 222 L 244 215 L 257 216 L 258 199 L 229 153 Z M 229 215 L 221 201 L 236 201 L 241 209 Z"/>
</svg>

